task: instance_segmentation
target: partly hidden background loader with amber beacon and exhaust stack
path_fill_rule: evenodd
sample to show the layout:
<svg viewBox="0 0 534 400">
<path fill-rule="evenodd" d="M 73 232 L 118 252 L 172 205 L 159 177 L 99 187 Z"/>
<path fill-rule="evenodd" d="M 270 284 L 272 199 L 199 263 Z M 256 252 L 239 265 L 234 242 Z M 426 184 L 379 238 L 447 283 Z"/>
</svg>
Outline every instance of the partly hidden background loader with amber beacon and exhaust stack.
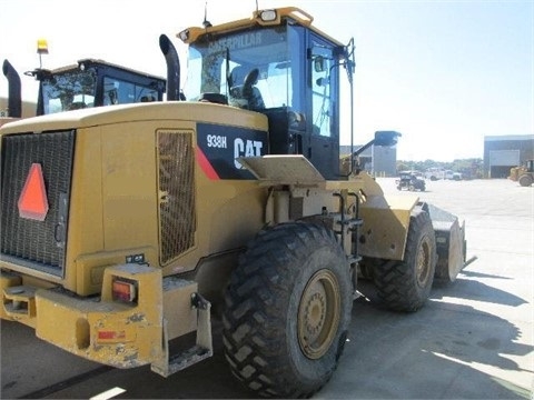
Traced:
<svg viewBox="0 0 534 400">
<path fill-rule="evenodd" d="M 38 52 L 42 51 L 48 53 L 44 40 L 38 42 Z M 0 98 L 0 127 L 14 119 L 78 108 L 161 101 L 166 89 L 164 78 L 105 60 L 81 59 L 52 70 L 41 67 L 24 72 L 39 81 L 36 103 L 29 103 L 22 101 L 19 73 L 8 60 L 3 60 L 2 71 L 8 98 Z"/>
</svg>

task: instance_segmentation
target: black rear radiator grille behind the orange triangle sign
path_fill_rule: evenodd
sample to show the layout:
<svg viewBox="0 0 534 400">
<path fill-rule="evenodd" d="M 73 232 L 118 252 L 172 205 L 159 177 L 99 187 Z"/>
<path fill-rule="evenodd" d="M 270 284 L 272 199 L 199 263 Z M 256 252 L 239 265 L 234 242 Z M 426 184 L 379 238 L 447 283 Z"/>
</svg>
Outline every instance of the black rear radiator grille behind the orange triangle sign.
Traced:
<svg viewBox="0 0 534 400">
<path fill-rule="evenodd" d="M 0 259 L 63 274 L 75 131 L 2 138 Z M 32 163 L 42 168 L 49 210 L 44 221 L 19 217 L 18 201 Z"/>
</svg>

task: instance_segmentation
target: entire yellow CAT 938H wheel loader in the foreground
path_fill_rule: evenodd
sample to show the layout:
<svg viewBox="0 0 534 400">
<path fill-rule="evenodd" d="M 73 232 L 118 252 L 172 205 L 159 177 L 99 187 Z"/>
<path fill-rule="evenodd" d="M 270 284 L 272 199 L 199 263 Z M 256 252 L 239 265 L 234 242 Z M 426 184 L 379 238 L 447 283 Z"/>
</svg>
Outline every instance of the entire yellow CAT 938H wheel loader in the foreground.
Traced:
<svg viewBox="0 0 534 400">
<path fill-rule="evenodd" d="M 247 388 L 307 397 L 343 352 L 358 277 L 403 311 L 435 279 L 453 281 L 463 223 L 340 162 L 353 40 L 312 22 L 281 8 L 184 30 L 184 90 L 161 36 L 168 101 L 4 124 L 1 318 L 73 354 L 167 377 L 212 354 L 220 317 Z"/>
</svg>

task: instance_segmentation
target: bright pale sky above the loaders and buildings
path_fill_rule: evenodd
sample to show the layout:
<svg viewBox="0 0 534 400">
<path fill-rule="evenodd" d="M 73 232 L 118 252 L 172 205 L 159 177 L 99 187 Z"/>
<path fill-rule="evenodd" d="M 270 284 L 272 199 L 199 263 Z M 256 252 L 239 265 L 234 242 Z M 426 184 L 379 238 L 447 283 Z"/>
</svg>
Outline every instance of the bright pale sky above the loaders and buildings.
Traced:
<svg viewBox="0 0 534 400">
<path fill-rule="evenodd" d="M 0 0 L 0 60 L 21 76 L 24 100 L 43 68 L 98 58 L 166 77 L 158 39 L 207 19 L 294 6 L 343 43 L 354 38 L 355 143 L 377 130 L 402 133 L 397 159 L 483 158 L 486 136 L 534 134 L 534 0 Z M 187 8 L 187 10 L 186 10 Z M 182 63 L 184 64 L 184 63 Z M 182 73 L 184 74 L 184 73 Z M 0 77 L 0 96 L 7 96 Z M 344 98 L 345 109 L 349 108 Z M 350 143 L 344 112 L 342 144 Z"/>
</svg>

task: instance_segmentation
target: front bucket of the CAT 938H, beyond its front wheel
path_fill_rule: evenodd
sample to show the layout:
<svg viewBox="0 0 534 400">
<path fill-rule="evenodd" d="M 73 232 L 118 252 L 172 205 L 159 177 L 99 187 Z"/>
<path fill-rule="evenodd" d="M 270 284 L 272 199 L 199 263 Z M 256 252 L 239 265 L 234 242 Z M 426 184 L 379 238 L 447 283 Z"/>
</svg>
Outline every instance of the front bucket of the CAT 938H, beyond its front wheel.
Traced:
<svg viewBox="0 0 534 400">
<path fill-rule="evenodd" d="M 461 226 L 458 218 L 452 213 L 432 204 L 426 206 L 436 234 L 437 266 L 434 280 L 454 282 L 465 267 L 465 222 Z"/>
</svg>

